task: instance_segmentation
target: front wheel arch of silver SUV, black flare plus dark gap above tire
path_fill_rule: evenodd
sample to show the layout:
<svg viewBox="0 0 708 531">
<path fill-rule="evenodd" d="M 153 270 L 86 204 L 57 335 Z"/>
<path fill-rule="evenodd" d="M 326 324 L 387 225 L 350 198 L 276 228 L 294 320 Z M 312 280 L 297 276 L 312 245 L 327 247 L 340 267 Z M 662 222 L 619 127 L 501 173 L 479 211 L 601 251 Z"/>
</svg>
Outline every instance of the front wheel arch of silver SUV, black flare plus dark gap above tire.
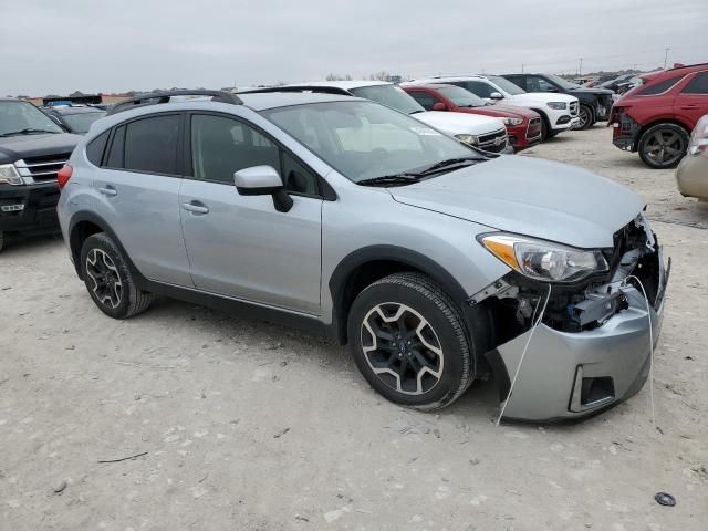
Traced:
<svg viewBox="0 0 708 531">
<path fill-rule="evenodd" d="M 452 274 L 429 257 L 397 246 L 362 248 L 346 256 L 329 281 L 332 324 L 340 344 L 347 343 L 348 314 L 356 295 L 373 282 L 402 271 L 416 271 L 430 277 L 464 309 L 467 292 Z"/>
</svg>

